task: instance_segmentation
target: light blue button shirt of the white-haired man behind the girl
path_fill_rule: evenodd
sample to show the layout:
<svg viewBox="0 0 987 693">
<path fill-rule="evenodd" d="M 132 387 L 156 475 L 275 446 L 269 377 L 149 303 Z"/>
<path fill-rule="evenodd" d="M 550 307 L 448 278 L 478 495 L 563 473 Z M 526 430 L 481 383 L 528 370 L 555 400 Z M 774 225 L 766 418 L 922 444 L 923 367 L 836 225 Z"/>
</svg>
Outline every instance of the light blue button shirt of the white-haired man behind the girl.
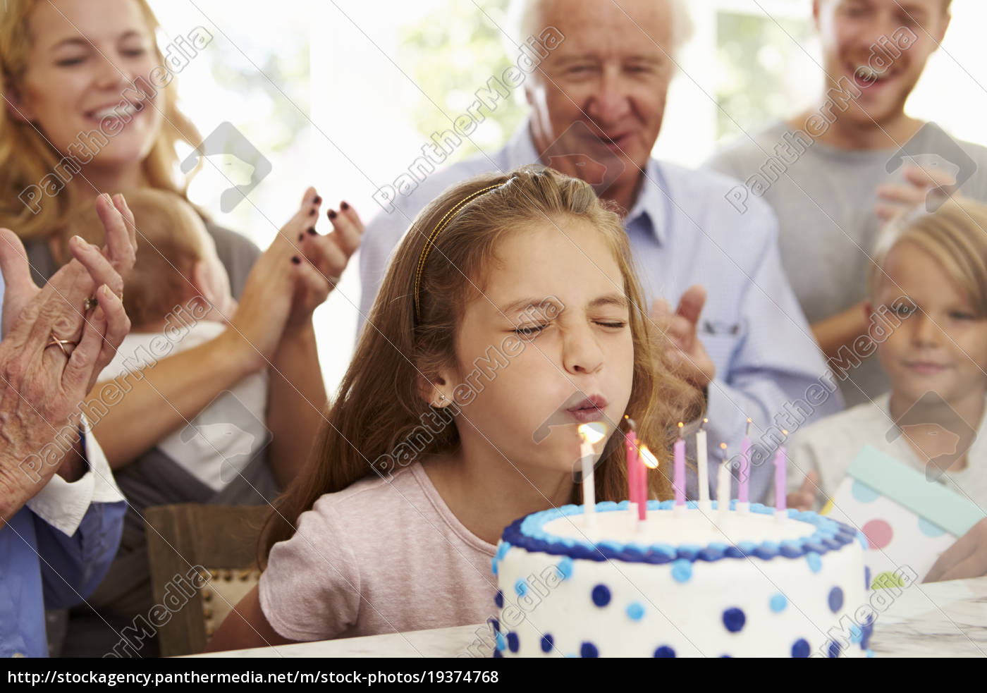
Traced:
<svg viewBox="0 0 987 693">
<path fill-rule="evenodd" d="M 378 214 L 367 225 L 360 249 L 359 328 L 370 313 L 392 251 L 427 202 L 471 176 L 532 163 L 538 163 L 538 154 L 525 124 L 500 151 L 433 174 L 395 199 L 392 209 Z M 645 175 L 625 228 L 648 305 L 660 297 L 674 307 L 693 284 L 707 289 L 699 336 L 717 368 L 706 415 L 715 487 L 720 442 L 727 444 L 731 456 L 737 454 L 748 417 L 754 421 L 751 437 L 756 443 L 758 431 L 776 423 L 795 429 L 841 411 L 843 400 L 838 391 L 818 404 L 818 397 L 806 396 L 813 386 L 831 380 L 782 269 L 778 222 L 771 208 L 752 200 L 748 211 L 738 216 L 725 198 L 736 182 L 715 172 L 650 159 Z M 764 443 L 766 451 L 773 449 L 767 439 Z M 773 465 L 754 466 L 750 500 L 766 499 L 773 478 Z M 690 487 L 693 496 L 694 479 Z M 715 488 L 711 493 L 716 498 Z"/>
</svg>

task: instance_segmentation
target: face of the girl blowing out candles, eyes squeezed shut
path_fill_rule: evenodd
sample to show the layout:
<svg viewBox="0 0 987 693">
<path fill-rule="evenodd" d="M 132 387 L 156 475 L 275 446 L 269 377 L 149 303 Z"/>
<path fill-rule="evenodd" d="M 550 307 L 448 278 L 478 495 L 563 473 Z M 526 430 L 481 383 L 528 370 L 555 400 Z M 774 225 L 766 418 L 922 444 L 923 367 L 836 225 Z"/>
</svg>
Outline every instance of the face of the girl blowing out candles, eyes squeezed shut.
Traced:
<svg viewBox="0 0 987 693">
<path fill-rule="evenodd" d="M 630 306 L 613 251 L 600 230 L 565 216 L 510 233 L 484 279 L 444 376 L 462 406 L 463 453 L 492 447 L 519 467 L 569 473 L 577 426 L 619 422 L 631 397 Z"/>
</svg>

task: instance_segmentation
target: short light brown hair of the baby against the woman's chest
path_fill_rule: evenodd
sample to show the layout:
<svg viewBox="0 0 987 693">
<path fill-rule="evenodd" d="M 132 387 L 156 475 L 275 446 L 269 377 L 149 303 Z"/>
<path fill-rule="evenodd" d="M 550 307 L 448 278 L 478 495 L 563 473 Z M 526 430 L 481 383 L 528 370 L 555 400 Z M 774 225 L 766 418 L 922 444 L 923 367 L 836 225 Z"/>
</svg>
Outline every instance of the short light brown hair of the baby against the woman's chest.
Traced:
<svg viewBox="0 0 987 693">
<path fill-rule="evenodd" d="M 148 325 L 167 316 L 194 295 L 195 263 L 205 258 L 202 223 L 195 210 L 174 192 L 141 188 L 123 192 L 137 227 L 137 260 L 123 287 L 123 308 L 133 326 Z M 104 229 L 90 204 L 73 222 L 73 233 L 103 245 Z"/>
</svg>

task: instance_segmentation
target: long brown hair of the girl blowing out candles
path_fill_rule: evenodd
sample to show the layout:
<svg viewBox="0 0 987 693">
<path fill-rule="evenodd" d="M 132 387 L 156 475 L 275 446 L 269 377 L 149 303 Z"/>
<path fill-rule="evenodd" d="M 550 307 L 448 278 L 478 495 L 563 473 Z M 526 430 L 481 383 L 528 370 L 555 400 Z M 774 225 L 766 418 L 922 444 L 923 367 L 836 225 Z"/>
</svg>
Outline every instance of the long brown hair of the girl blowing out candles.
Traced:
<svg viewBox="0 0 987 693">
<path fill-rule="evenodd" d="M 509 183 L 508 183 L 509 181 Z M 438 236 L 421 273 L 421 315 L 415 314 L 418 258 L 428 234 L 458 202 L 498 184 L 465 204 Z M 453 186 L 426 206 L 401 242 L 370 311 L 353 359 L 342 379 L 328 423 L 304 472 L 277 500 L 261 537 L 264 565 L 270 548 L 291 537 L 298 516 L 324 494 L 342 491 L 364 477 L 387 476 L 407 458 L 392 455 L 400 443 L 427 420 L 430 405 L 421 397 L 420 383 L 434 381 L 443 365 L 456 362 L 456 329 L 467 303 L 476 296 L 494 252 L 506 235 L 532 223 L 558 223 L 577 216 L 599 229 L 613 251 L 631 300 L 630 326 L 634 342 L 634 379 L 627 413 L 637 423 L 660 462 L 648 475 L 651 498 L 671 495 L 666 471 L 675 424 L 688 405 L 696 411 L 701 399 L 693 388 L 671 375 L 655 335 L 647 328 L 647 313 L 631 249 L 620 217 L 605 208 L 588 184 L 552 169 L 524 167 L 507 175 L 478 176 Z M 456 449 L 455 425 L 441 427 L 418 451 L 416 459 Z M 628 493 L 624 436 L 611 435 L 596 467 L 599 500 L 624 500 Z M 405 442 L 404 449 L 410 449 Z M 572 501 L 579 489 L 573 485 Z"/>
</svg>

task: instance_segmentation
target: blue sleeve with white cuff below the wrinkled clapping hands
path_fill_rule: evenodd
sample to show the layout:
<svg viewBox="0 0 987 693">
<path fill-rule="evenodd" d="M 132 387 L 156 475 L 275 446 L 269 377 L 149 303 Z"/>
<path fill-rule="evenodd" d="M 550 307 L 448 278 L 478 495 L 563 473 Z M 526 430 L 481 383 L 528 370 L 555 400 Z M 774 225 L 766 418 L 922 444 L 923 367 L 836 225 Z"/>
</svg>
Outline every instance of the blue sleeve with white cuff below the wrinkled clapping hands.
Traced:
<svg viewBox="0 0 987 693">
<path fill-rule="evenodd" d="M 0 529 L 0 657 L 47 656 L 44 609 L 80 603 L 116 554 L 126 503 L 92 433 L 84 443 L 90 471 L 52 480 Z"/>
</svg>

